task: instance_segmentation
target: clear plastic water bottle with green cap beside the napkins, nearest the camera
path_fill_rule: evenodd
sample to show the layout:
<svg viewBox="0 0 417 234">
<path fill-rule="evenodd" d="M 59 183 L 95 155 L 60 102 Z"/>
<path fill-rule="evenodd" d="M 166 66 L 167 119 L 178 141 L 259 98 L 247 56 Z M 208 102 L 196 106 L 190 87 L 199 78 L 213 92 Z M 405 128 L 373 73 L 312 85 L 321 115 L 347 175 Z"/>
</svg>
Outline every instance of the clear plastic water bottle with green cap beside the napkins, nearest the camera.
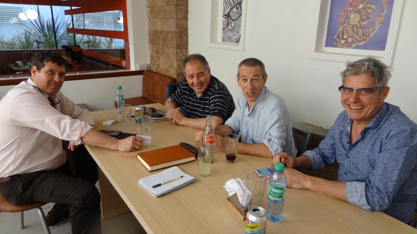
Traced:
<svg viewBox="0 0 417 234">
<path fill-rule="evenodd" d="M 287 177 L 284 174 L 284 164 L 276 163 L 275 172 L 269 178 L 268 204 L 266 206 L 266 217 L 271 222 L 283 221 L 286 188 Z"/>
</svg>

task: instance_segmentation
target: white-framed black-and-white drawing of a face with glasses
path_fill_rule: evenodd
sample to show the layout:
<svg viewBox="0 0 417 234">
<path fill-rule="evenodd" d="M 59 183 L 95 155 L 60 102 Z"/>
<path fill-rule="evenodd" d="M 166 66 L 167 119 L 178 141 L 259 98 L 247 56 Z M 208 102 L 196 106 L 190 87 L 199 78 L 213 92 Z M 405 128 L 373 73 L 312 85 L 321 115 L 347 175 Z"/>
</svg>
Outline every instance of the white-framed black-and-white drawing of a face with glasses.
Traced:
<svg viewBox="0 0 417 234">
<path fill-rule="evenodd" d="M 246 1 L 211 1 L 209 47 L 244 50 Z"/>
</svg>

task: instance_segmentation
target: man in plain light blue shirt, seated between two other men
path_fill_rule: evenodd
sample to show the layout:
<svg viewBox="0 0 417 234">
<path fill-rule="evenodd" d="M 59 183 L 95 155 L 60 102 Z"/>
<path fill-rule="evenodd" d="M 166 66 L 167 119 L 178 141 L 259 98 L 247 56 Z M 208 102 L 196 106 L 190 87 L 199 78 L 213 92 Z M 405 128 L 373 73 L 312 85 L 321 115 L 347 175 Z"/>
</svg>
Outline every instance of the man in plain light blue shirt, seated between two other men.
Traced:
<svg viewBox="0 0 417 234">
<path fill-rule="evenodd" d="M 240 134 L 237 153 L 272 158 L 286 152 L 295 157 L 297 150 L 292 137 L 292 127 L 287 106 L 278 95 L 266 86 L 268 75 L 263 63 L 256 58 L 240 62 L 236 81 L 242 89 L 232 117 L 214 129 L 214 146 L 225 150 L 224 136 Z M 202 140 L 203 133 L 196 134 Z"/>
</svg>

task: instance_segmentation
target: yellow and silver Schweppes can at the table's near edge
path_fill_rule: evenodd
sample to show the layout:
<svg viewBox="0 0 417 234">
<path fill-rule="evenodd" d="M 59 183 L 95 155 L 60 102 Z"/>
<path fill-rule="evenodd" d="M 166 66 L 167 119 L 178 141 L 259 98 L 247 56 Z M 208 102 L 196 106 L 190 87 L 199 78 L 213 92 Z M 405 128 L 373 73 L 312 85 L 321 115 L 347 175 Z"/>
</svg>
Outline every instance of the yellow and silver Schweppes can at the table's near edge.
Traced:
<svg viewBox="0 0 417 234">
<path fill-rule="evenodd" d="M 246 213 L 245 234 L 265 234 L 266 211 L 260 206 L 252 206 Z"/>
</svg>

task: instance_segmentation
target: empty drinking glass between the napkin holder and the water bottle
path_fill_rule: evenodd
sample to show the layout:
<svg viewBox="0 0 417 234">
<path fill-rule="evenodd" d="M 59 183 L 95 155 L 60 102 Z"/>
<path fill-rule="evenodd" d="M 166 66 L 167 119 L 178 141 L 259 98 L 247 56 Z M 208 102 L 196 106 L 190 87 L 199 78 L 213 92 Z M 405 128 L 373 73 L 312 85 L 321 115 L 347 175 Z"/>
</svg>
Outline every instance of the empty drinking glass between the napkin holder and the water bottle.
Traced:
<svg viewBox="0 0 417 234">
<path fill-rule="evenodd" d="M 246 180 L 246 187 L 251 191 L 252 197 L 249 208 L 252 206 L 261 206 L 263 200 L 263 192 L 265 191 L 266 176 L 252 172 L 249 173 Z"/>
</svg>

